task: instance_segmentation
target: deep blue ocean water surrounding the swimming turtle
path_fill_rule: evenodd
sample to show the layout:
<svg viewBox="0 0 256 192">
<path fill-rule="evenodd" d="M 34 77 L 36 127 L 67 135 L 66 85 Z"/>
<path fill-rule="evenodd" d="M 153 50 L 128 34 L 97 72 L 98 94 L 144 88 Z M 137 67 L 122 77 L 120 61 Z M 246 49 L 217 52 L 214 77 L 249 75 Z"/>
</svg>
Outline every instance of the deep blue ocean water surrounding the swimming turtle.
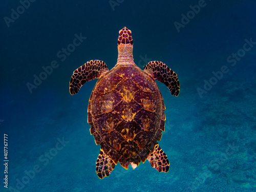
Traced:
<svg viewBox="0 0 256 192">
<path fill-rule="evenodd" d="M 256 191 L 255 1 L 21 0 L 0 10 L 0 191 Z M 178 74 L 178 97 L 158 83 L 170 170 L 118 163 L 100 180 L 87 123 L 97 79 L 74 96 L 69 81 L 91 59 L 113 68 L 124 26 L 139 67 L 161 60 Z"/>
</svg>

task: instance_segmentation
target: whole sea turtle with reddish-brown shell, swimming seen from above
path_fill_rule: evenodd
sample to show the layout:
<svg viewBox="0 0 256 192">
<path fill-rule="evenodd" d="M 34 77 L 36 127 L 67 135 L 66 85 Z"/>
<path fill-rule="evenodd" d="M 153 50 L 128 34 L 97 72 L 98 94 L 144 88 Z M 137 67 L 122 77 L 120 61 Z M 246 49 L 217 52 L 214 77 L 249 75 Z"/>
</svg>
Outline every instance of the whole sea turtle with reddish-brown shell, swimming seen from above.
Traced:
<svg viewBox="0 0 256 192">
<path fill-rule="evenodd" d="M 150 61 L 141 70 L 133 61 L 131 30 L 119 31 L 117 64 L 109 71 L 101 60 L 90 60 L 76 69 L 70 79 L 70 93 L 99 78 L 88 104 L 91 135 L 100 152 L 96 173 L 109 176 L 119 162 L 125 169 L 136 168 L 147 159 L 159 172 L 168 172 L 169 161 L 158 145 L 164 131 L 164 102 L 154 79 L 178 96 L 177 74 L 161 61 Z"/>
</svg>

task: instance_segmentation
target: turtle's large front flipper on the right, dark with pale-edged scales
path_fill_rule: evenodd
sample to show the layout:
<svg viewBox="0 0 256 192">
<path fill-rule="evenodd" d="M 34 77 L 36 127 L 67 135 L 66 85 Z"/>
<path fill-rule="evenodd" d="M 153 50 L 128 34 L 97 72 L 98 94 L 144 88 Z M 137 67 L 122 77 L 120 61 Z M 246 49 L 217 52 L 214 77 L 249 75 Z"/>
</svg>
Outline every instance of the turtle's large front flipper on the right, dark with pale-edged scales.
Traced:
<svg viewBox="0 0 256 192">
<path fill-rule="evenodd" d="M 180 83 L 177 74 L 168 68 L 163 62 L 150 61 L 144 67 L 144 71 L 149 73 L 154 79 L 164 83 L 172 95 L 179 95 Z"/>
</svg>

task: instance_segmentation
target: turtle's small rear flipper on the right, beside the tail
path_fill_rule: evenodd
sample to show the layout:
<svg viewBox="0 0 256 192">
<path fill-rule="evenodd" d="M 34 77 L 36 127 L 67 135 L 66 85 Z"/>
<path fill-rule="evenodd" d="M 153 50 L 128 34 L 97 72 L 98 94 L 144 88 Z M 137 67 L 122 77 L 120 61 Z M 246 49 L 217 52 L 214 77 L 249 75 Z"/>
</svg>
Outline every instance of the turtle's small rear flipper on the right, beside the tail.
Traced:
<svg viewBox="0 0 256 192">
<path fill-rule="evenodd" d="M 169 161 L 166 154 L 158 144 L 156 144 L 154 151 L 150 153 L 147 160 L 150 162 L 151 166 L 157 169 L 159 172 L 168 172 Z"/>
</svg>

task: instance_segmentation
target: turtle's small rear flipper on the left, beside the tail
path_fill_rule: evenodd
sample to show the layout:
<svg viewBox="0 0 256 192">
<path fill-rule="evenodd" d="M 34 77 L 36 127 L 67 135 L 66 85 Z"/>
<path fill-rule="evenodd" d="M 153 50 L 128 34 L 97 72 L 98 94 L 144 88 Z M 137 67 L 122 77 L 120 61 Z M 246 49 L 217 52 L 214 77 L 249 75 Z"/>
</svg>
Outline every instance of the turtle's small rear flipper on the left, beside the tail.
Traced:
<svg viewBox="0 0 256 192">
<path fill-rule="evenodd" d="M 105 155 L 102 149 L 100 149 L 98 159 L 96 161 L 96 173 L 100 179 L 105 176 L 108 177 L 112 170 L 115 168 L 115 163 L 112 159 Z"/>
</svg>

